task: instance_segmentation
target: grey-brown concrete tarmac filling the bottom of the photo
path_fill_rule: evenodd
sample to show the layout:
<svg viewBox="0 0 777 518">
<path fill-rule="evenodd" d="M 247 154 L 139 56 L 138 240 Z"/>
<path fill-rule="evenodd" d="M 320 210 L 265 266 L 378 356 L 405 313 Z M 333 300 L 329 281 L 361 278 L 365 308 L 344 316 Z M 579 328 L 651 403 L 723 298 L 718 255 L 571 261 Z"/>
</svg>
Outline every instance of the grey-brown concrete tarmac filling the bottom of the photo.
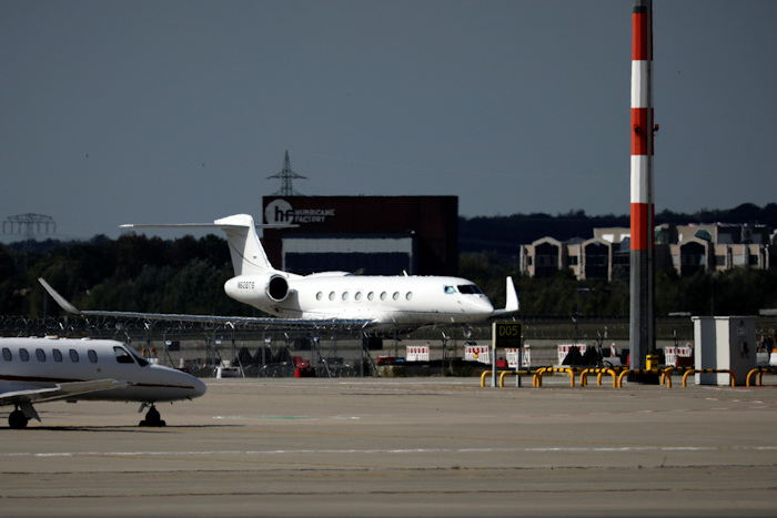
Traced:
<svg viewBox="0 0 777 518">
<path fill-rule="evenodd" d="M 2 407 L 0 516 L 777 515 L 777 376 L 508 379 L 209 379 L 164 428 L 80 402 L 11 430 Z"/>
</svg>

